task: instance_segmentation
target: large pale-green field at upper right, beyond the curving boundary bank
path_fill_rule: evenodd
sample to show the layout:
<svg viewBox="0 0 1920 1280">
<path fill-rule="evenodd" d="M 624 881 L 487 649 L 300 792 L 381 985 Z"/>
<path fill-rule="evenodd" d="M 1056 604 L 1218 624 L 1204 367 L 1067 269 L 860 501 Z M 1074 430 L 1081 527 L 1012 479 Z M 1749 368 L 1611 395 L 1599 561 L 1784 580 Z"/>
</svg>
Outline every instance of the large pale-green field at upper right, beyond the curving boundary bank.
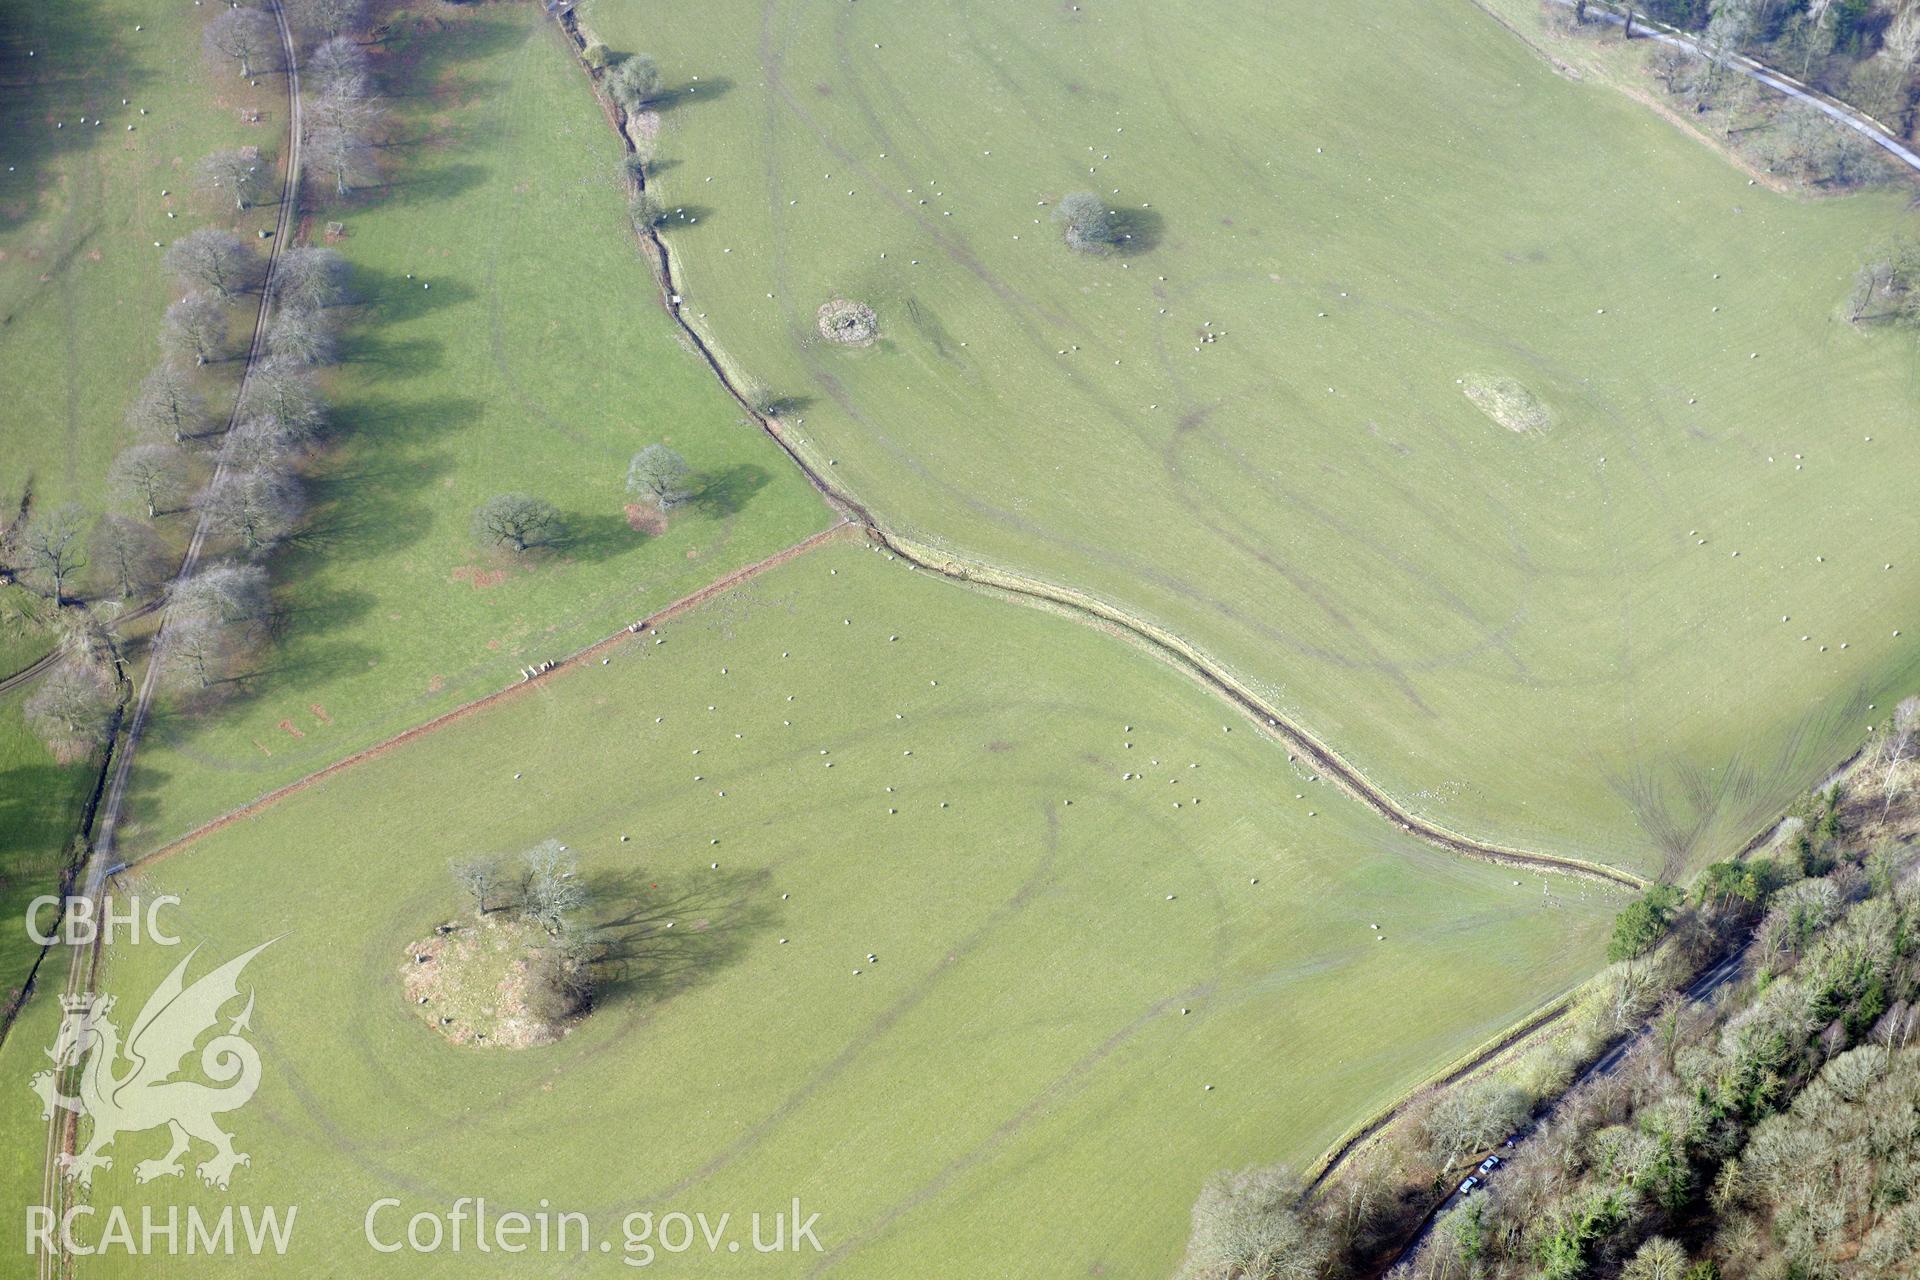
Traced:
<svg viewBox="0 0 1920 1280">
<path fill-rule="evenodd" d="M 1914 353 L 1837 319 L 1905 192 L 1751 186 L 1465 0 L 582 13 L 674 90 L 689 311 L 835 476 L 1440 823 L 1680 873 L 1920 681 Z"/>
</svg>

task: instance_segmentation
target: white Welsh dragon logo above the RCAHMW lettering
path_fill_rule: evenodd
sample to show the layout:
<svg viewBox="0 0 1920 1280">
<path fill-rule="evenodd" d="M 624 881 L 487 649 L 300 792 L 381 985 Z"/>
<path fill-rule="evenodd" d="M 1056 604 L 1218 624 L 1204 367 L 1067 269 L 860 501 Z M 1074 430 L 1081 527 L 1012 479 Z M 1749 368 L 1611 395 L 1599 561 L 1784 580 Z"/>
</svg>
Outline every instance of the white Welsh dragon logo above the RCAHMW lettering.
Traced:
<svg viewBox="0 0 1920 1280">
<path fill-rule="evenodd" d="M 228 960 L 192 986 L 186 984 L 186 965 L 200 948 L 188 952 L 148 998 L 125 1042 L 109 1017 L 111 996 L 61 998 L 65 1015 L 54 1048 L 46 1050 L 54 1069 L 33 1077 L 33 1092 L 40 1096 L 42 1121 L 54 1119 L 54 1107 L 63 1107 L 94 1123 L 86 1148 L 77 1155 L 60 1157 L 60 1167 L 69 1178 L 88 1186 L 94 1169 L 113 1167 L 113 1157 L 104 1151 L 119 1134 L 161 1125 L 171 1130 L 173 1146 L 163 1157 L 134 1165 L 134 1178 L 140 1182 L 184 1173 L 180 1157 L 196 1138 L 213 1148 L 213 1155 L 198 1169 L 209 1186 L 225 1190 L 234 1167 L 250 1163 L 246 1153 L 234 1151 L 232 1134 L 213 1117 L 244 1105 L 259 1088 L 259 1052 L 240 1034 L 250 1029 L 253 1015 L 252 990 L 246 1007 L 227 1031 L 200 1050 L 200 1073 L 215 1084 L 173 1077 L 186 1067 L 202 1034 L 219 1027 L 221 1007 L 240 998 L 240 971 L 271 942 L 269 938 L 252 952 Z M 60 1080 L 75 1067 L 79 1094 L 61 1094 Z"/>
</svg>

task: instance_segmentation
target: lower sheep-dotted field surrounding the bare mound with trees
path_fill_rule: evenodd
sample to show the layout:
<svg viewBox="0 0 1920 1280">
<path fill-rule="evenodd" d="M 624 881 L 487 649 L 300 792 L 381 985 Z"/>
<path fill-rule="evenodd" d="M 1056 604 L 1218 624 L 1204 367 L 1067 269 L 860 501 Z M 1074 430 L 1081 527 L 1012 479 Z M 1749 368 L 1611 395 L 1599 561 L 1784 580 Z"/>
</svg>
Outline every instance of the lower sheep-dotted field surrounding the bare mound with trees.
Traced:
<svg viewBox="0 0 1920 1280">
<path fill-rule="evenodd" d="M 1311 1159 L 1586 975 L 1620 904 L 1398 837 L 1119 641 L 854 543 L 659 639 L 136 867 L 196 975 L 278 938 L 246 979 L 265 1077 L 230 1192 L 136 1186 L 144 1134 L 96 1205 L 298 1203 L 286 1276 L 472 1274 L 369 1251 L 382 1196 L 382 1234 L 457 1196 L 611 1232 L 488 1259 L 538 1274 L 624 1272 L 636 1209 L 743 1234 L 799 1196 L 828 1253 L 741 1270 L 1160 1278 L 1213 1169 Z M 561 1044 L 457 1048 L 405 948 L 463 912 L 449 858 L 543 839 L 626 967 Z M 179 958 L 109 954 L 127 1019 Z M 134 1267 L 252 1274 L 88 1274 Z"/>
</svg>

